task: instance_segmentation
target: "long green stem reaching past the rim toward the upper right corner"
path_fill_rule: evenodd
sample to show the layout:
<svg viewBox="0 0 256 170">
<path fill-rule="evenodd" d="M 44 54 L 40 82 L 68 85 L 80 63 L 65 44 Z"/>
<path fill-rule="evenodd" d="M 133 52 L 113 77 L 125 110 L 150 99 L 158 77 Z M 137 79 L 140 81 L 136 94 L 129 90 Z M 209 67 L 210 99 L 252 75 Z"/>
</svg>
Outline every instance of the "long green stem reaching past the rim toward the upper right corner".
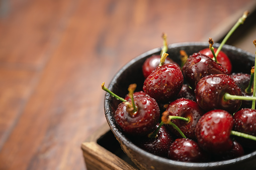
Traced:
<svg viewBox="0 0 256 170">
<path fill-rule="evenodd" d="M 217 49 L 215 55 L 218 56 L 222 46 L 227 42 L 227 40 L 229 39 L 229 37 L 233 34 L 233 32 L 237 29 L 238 26 L 240 26 L 241 24 L 243 24 L 243 22 L 245 21 L 245 19 L 247 18 L 249 12 L 245 11 L 242 15 L 241 18 L 238 19 L 238 21 L 236 22 L 236 24 L 231 28 L 231 30 L 227 33 L 226 37 L 222 40 L 219 48 Z"/>
</svg>

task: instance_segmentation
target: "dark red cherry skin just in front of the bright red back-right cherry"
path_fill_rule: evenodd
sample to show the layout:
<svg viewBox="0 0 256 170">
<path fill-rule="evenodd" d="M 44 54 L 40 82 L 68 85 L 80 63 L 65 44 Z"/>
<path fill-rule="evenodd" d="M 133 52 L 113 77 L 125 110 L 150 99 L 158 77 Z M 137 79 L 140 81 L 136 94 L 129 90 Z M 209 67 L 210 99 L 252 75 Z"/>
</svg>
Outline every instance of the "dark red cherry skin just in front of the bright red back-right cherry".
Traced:
<svg viewBox="0 0 256 170">
<path fill-rule="evenodd" d="M 182 67 L 184 79 L 195 89 L 198 81 L 207 75 L 211 74 L 227 74 L 227 69 L 222 65 L 213 61 L 210 57 L 194 53 L 189 56 L 188 60 Z"/>
</svg>

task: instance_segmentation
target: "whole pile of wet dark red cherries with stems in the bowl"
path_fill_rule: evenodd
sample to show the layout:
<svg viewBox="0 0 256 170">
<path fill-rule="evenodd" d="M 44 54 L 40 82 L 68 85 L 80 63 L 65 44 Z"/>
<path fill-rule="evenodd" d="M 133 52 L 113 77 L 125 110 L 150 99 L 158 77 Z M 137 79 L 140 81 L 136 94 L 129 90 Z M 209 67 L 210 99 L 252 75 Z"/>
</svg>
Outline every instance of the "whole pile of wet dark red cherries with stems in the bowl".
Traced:
<svg viewBox="0 0 256 170">
<path fill-rule="evenodd" d="M 178 161 L 227 160 L 255 150 L 254 67 L 251 75 L 231 73 L 230 60 L 221 45 L 213 49 L 212 39 L 210 48 L 185 55 L 178 65 L 163 38 L 161 54 L 142 66 L 143 91 L 131 84 L 121 98 L 102 84 L 122 101 L 114 114 L 120 129 L 142 149 Z"/>
</svg>

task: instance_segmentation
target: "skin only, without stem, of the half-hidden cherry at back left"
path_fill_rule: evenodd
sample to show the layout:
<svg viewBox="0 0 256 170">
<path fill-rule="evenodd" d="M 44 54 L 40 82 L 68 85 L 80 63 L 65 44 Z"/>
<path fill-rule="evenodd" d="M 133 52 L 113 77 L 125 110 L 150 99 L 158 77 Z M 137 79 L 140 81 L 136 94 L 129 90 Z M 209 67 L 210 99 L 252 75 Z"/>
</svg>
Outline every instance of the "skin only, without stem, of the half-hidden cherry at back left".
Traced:
<svg viewBox="0 0 256 170">
<path fill-rule="evenodd" d="M 161 59 L 160 55 L 152 55 L 145 60 L 145 62 L 142 65 L 142 73 L 143 73 L 143 76 L 145 79 L 149 76 L 149 74 L 152 73 L 153 70 L 156 69 L 157 66 L 159 66 L 160 59 Z M 177 64 L 169 57 L 166 57 L 164 63 L 165 64 L 168 64 L 168 63 Z"/>
</svg>

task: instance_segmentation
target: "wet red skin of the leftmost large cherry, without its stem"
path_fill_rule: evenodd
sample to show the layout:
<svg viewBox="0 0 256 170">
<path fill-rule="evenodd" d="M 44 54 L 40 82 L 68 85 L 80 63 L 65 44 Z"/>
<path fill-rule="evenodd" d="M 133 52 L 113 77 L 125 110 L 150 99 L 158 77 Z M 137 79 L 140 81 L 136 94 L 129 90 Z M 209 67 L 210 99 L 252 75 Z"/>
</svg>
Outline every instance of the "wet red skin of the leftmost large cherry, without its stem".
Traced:
<svg viewBox="0 0 256 170">
<path fill-rule="evenodd" d="M 131 104 L 131 100 L 128 100 Z M 131 135 L 145 135 L 154 130 L 160 117 L 159 107 L 156 101 L 145 96 L 134 96 L 134 103 L 137 111 L 132 113 L 128 111 L 126 102 L 118 105 L 115 111 L 115 121 L 123 132 Z"/>
</svg>

